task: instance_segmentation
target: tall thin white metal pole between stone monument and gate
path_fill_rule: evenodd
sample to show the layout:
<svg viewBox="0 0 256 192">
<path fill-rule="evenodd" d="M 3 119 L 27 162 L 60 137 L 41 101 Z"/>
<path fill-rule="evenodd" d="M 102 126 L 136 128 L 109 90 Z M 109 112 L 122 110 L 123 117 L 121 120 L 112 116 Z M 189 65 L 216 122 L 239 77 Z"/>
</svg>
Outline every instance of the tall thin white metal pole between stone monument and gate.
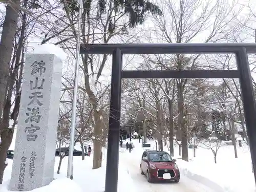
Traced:
<svg viewBox="0 0 256 192">
<path fill-rule="evenodd" d="M 70 143 L 69 143 L 69 161 L 67 177 L 70 179 L 72 175 L 73 165 L 73 151 L 75 142 L 75 126 L 76 126 L 76 102 L 77 102 L 77 89 L 78 89 L 78 77 L 79 77 L 79 57 L 80 57 L 80 36 L 81 36 L 81 16 L 82 16 L 82 0 L 79 1 L 79 14 L 78 14 L 78 27 L 77 27 L 77 39 L 76 39 L 76 63 L 75 63 L 75 78 L 74 78 L 74 90 L 73 90 L 73 103 L 72 103 L 72 117 L 71 117 L 71 129 L 70 129 Z"/>
</svg>

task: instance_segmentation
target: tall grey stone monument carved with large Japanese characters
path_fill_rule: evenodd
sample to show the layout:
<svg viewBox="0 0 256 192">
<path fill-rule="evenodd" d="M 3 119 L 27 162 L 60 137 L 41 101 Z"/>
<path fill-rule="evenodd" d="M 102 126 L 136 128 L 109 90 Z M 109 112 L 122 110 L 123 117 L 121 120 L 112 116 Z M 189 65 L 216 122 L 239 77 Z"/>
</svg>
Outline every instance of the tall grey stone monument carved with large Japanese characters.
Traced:
<svg viewBox="0 0 256 192">
<path fill-rule="evenodd" d="M 62 61 L 26 56 L 9 190 L 27 191 L 53 180 Z"/>
</svg>

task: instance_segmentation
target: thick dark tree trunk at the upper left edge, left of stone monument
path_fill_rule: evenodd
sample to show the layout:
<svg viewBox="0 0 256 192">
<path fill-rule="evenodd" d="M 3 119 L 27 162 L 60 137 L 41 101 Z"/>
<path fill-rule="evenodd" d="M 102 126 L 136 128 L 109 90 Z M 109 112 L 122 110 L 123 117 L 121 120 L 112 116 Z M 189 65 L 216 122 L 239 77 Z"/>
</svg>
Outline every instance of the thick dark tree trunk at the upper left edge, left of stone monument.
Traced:
<svg viewBox="0 0 256 192">
<path fill-rule="evenodd" d="M 17 28 L 19 11 L 16 8 L 18 8 L 20 5 L 19 0 L 13 0 L 12 2 L 12 6 L 6 6 L 6 15 L 0 41 L 0 117 L 2 117 L 6 100 L 5 93 L 9 78 L 9 68 L 12 56 L 13 40 Z"/>
</svg>

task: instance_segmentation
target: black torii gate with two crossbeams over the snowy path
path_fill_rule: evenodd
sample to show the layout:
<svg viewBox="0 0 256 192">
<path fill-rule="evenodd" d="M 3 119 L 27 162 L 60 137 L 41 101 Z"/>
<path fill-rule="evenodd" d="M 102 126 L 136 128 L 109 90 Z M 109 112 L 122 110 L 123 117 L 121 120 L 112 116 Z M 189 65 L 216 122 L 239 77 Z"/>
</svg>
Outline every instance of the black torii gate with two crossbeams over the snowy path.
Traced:
<svg viewBox="0 0 256 192">
<path fill-rule="evenodd" d="M 123 54 L 236 54 L 238 70 L 123 71 Z M 112 54 L 112 77 L 105 192 L 117 192 L 122 78 L 239 78 L 253 169 L 256 170 L 256 104 L 247 53 L 256 44 L 82 44 L 80 54 Z M 256 182 L 256 172 L 254 172 Z"/>
</svg>

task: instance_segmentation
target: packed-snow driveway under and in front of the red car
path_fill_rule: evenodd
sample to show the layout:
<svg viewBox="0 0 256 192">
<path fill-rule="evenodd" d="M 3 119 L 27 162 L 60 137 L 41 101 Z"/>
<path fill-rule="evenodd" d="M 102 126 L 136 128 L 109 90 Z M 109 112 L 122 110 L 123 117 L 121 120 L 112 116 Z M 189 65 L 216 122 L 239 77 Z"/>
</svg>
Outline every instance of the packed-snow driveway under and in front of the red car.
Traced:
<svg viewBox="0 0 256 192">
<path fill-rule="evenodd" d="M 216 192 L 183 175 L 181 175 L 179 183 L 148 183 L 145 176 L 140 174 L 140 162 L 138 157 L 133 156 L 133 153 L 121 153 L 119 163 L 126 166 L 135 187 L 142 192 Z"/>
</svg>

